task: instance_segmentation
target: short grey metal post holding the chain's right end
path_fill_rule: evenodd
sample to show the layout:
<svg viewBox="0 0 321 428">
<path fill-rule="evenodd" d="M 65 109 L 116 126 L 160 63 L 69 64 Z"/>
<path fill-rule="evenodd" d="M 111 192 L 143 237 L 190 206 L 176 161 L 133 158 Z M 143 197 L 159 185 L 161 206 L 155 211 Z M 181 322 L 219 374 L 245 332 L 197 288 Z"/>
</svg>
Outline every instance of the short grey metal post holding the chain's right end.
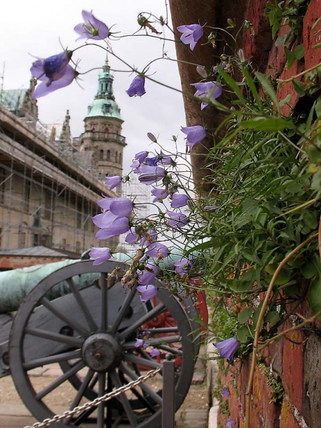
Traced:
<svg viewBox="0 0 321 428">
<path fill-rule="evenodd" d="M 171 355 L 163 361 L 163 412 L 162 427 L 175 427 L 175 360 Z"/>
</svg>

